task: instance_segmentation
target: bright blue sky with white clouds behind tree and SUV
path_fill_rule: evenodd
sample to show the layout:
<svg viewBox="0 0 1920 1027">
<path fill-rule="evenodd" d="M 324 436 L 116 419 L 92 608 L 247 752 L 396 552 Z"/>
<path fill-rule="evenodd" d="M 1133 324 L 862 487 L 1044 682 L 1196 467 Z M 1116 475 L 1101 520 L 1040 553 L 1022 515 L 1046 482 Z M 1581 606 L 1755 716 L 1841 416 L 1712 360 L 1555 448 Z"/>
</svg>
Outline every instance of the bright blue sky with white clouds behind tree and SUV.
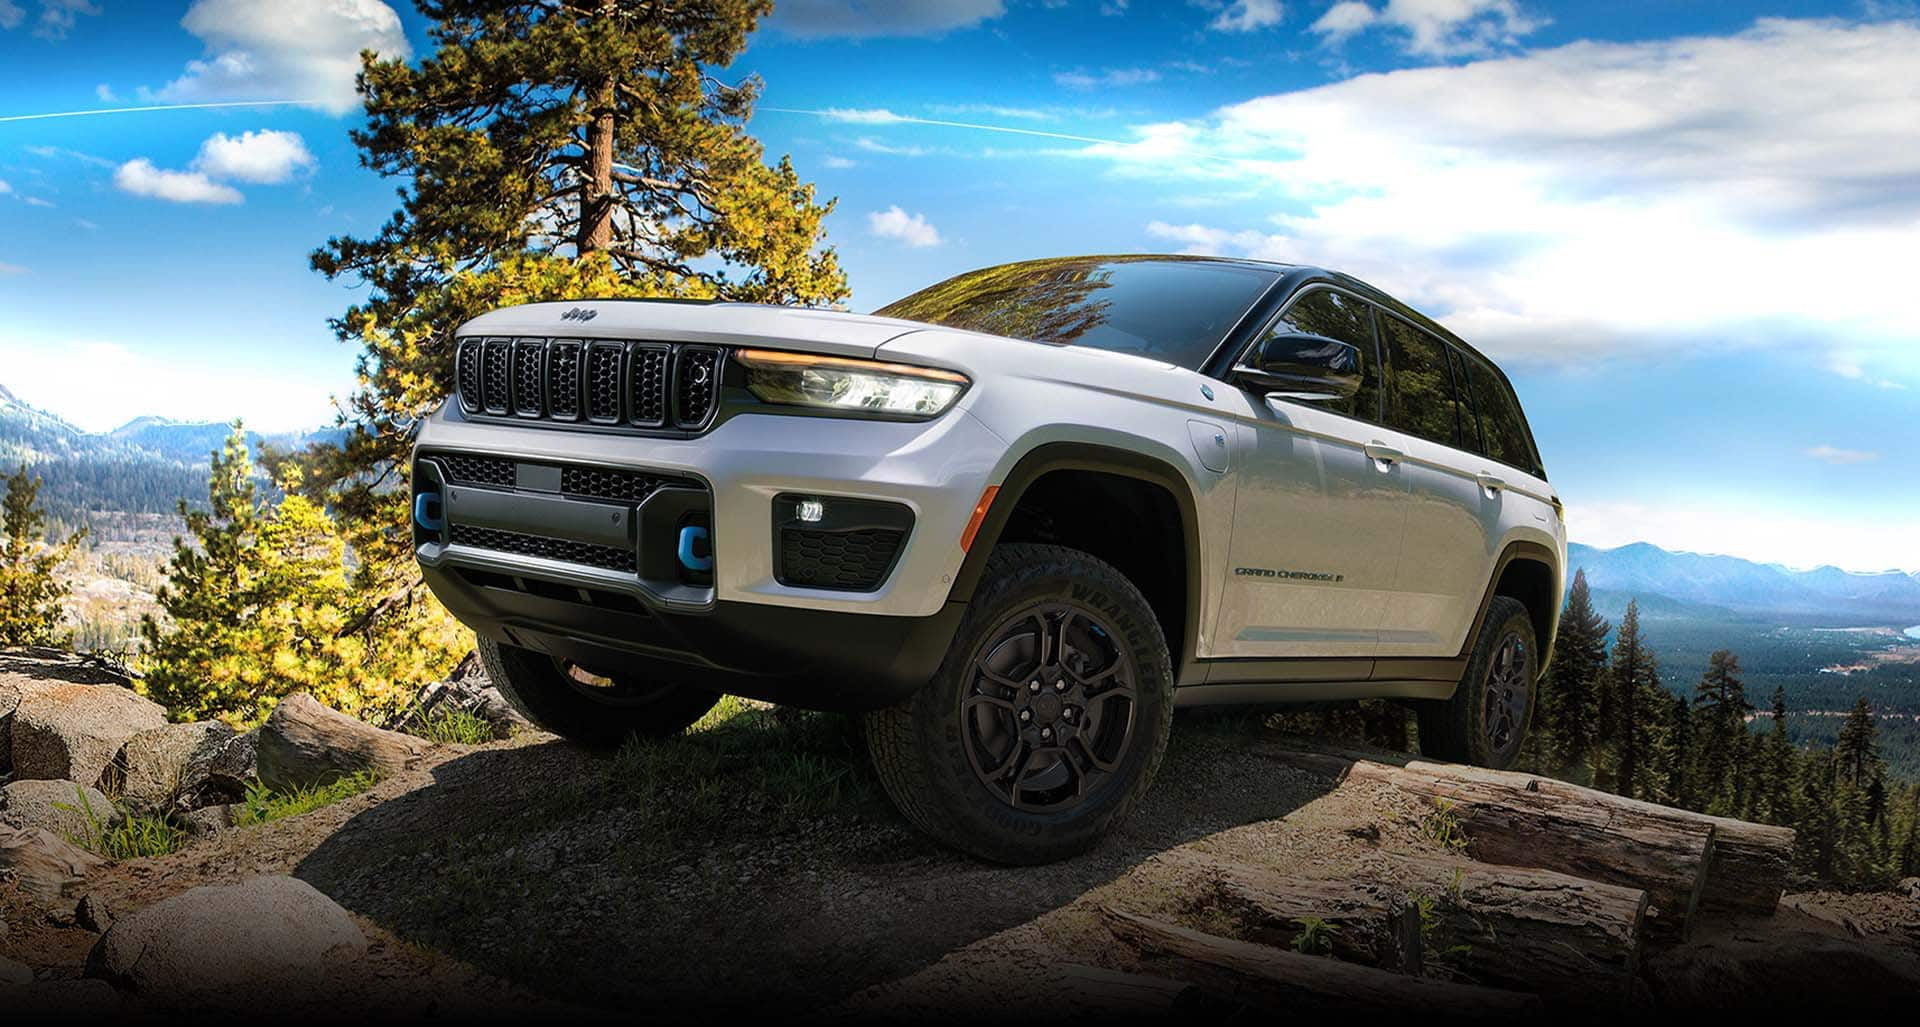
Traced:
<svg viewBox="0 0 1920 1027">
<path fill-rule="evenodd" d="M 428 38 L 0 0 L 0 384 L 326 420 L 353 296 L 307 251 L 394 207 L 361 46 Z M 1342 267 L 1509 369 L 1576 539 L 1920 570 L 1916 52 L 1889 2 L 791 0 L 728 75 L 839 200 L 854 309 L 1062 251 Z M 259 100 L 294 104 L 13 119 Z"/>
</svg>

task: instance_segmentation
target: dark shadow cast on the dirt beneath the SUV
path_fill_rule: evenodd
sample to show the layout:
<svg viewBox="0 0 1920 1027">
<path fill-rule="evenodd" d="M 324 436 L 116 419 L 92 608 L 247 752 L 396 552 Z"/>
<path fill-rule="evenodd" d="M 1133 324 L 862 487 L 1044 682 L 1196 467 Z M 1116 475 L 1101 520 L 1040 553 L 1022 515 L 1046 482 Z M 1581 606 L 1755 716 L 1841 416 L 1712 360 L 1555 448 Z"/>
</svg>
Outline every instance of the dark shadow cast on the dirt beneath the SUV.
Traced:
<svg viewBox="0 0 1920 1027">
<path fill-rule="evenodd" d="M 718 829 L 662 833 L 660 810 L 624 808 L 612 795 L 607 777 L 620 760 L 559 741 L 486 749 L 351 818 L 296 875 L 409 943 L 557 1000 L 799 1014 L 1334 787 L 1250 754 L 1244 741 L 1206 722 L 1177 724 L 1129 822 L 1092 852 L 1037 868 L 941 848 L 874 795 L 820 816 L 762 824 L 747 810 Z M 697 789 L 664 800 L 699 802 Z M 649 825 L 655 833 L 641 835 Z M 1064 952 L 1062 962 L 1096 956 Z"/>
</svg>

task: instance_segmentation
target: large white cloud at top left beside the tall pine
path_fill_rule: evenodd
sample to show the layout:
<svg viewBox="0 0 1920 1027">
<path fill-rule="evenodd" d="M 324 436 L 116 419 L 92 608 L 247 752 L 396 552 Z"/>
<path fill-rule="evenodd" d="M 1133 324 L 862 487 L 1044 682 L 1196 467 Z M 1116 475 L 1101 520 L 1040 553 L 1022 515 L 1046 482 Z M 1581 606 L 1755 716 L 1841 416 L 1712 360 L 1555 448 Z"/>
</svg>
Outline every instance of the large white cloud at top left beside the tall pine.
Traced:
<svg viewBox="0 0 1920 1027">
<path fill-rule="evenodd" d="M 154 90 L 157 100 L 307 100 L 340 115 L 359 106 L 361 50 L 413 54 L 382 0 L 194 0 L 180 25 L 207 56 Z"/>
</svg>

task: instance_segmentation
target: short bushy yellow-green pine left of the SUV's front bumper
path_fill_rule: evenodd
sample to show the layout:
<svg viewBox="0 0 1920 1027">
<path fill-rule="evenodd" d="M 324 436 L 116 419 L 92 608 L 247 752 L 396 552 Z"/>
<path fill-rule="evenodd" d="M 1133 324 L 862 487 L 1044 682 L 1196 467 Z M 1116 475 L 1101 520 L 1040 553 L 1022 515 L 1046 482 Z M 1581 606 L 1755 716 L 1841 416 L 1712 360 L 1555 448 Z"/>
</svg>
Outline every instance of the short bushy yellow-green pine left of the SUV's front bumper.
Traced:
<svg viewBox="0 0 1920 1027">
<path fill-rule="evenodd" d="M 371 655 L 344 624 L 351 610 L 346 543 L 319 505 L 282 482 L 263 503 L 246 434 L 234 424 L 213 455 L 207 509 L 180 503 L 190 539 L 175 539 L 165 620 L 146 616 L 140 689 L 179 720 L 263 720 L 280 697 L 313 693 L 334 708 L 390 712 L 411 699 L 411 664 Z"/>
</svg>

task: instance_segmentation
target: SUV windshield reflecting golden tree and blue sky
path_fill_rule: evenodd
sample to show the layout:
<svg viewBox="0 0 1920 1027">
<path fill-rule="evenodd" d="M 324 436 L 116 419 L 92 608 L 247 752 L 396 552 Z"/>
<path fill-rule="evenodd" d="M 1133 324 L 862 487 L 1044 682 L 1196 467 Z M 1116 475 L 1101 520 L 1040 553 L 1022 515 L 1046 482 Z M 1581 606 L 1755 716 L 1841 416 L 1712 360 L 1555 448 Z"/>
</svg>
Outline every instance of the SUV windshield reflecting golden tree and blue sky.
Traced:
<svg viewBox="0 0 1920 1027">
<path fill-rule="evenodd" d="M 1179 257 L 1058 257 L 970 271 L 874 313 L 1198 370 L 1277 276 Z"/>
</svg>

